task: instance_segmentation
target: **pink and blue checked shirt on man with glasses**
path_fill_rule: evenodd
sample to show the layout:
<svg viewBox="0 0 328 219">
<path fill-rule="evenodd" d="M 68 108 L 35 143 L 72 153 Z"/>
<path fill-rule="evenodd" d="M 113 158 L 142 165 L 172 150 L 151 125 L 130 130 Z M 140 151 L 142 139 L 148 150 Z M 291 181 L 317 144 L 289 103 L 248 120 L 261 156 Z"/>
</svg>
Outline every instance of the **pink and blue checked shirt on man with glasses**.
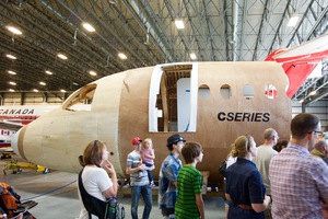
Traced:
<svg viewBox="0 0 328 219">
<path fill-rule="evenodd" d="M 306 148 L 289 145 L 272 158 L 269 168 L 272 217 L 324 218 L 323 200 L 328 200 L 328 166 Z"/>
</svg>

